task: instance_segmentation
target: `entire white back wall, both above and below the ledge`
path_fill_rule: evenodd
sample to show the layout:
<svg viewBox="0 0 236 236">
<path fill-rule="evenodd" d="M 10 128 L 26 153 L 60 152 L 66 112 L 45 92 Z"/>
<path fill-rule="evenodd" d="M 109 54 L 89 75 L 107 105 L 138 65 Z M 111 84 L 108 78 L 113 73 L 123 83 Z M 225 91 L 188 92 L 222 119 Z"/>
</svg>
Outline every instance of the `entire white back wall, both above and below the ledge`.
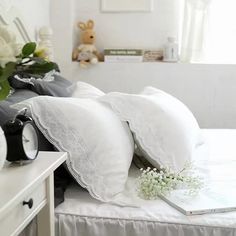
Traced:
<svg viewBox="0 0 236 236">
<path fill-rule="evenodd" d="M 99 0 L 51 0 L 56 33 L 56 60 L 63 74 L 107 91 L 138 92 L 152 85 L 178 97 L 193 111 L 201 127 L 236 128 L 236 66 L 171 63 L 99 63 L 80 69 L 71 62 L 77 20 L 96 22 L 97 46 L 161 47 L 168 35 L 177 35 L 179 0 L 154 0 L 153 13 L 108 14 Z"/>
</svg>

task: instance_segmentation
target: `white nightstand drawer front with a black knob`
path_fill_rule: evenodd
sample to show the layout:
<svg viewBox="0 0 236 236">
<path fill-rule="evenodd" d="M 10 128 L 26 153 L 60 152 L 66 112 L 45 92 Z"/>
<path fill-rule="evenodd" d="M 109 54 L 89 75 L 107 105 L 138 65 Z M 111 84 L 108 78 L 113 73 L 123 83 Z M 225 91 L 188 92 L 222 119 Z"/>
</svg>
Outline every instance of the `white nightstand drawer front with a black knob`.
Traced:
<svg viewBox="0 0 236 236">
<path fill-rule="evenodd" d="M 46 205 L 46 181 L 27 194 L 21 202 L 0 220 L 0 235 L 17 235 Z"/>
</svg>

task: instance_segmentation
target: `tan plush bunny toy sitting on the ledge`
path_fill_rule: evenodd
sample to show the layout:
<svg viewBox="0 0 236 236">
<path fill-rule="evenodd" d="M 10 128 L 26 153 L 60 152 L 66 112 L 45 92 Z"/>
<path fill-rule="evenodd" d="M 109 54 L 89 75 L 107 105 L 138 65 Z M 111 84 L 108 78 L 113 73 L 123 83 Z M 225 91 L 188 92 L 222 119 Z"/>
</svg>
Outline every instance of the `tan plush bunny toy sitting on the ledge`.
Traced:
<svg viewBox="0 0 236 236">
<path fill-rule="evenodd" d="M 82 44 L 73 51 L 72 59 L 73 61 L 79 61 L 82 67 L 87 67 L 90 63 L 96 64 L 98 62 L 99 53 L 94 46 L 96 39 L 93 30 L 94 22 L 92 20 L 88 20 L 87 24 L 78 22 L 77 26 L 81 30 Z"/>
</svg>

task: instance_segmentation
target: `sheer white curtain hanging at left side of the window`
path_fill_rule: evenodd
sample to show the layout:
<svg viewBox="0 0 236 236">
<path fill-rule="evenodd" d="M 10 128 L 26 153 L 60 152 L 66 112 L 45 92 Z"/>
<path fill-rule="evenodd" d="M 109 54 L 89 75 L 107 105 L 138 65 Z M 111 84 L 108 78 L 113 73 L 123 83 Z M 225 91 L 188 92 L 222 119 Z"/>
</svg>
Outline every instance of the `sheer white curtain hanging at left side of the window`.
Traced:
<svg viewBox="0 0 236 236">
<path fill-rule="evenodd" d="M 184 2 L 180 42 L 180 59 L 183 62 L 199 62 L 203 59 L 210 2 L 211 0 L 185 0 Z"/>
</svg>

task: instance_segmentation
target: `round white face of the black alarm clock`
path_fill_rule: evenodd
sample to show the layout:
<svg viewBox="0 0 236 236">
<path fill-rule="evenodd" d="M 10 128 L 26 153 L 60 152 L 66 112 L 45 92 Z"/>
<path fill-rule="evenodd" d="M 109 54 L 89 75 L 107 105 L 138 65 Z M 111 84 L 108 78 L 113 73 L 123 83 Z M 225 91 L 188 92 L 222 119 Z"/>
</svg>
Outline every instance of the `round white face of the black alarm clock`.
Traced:
<svg viewBox="0 0 236 236">
<path fill-rule="evenodd" d="M 22 131 L 22 142 L 26 156 L 33 160 L 38 154 L 38 136 L 32 124 L 26 123 Z"/>
</svg>

